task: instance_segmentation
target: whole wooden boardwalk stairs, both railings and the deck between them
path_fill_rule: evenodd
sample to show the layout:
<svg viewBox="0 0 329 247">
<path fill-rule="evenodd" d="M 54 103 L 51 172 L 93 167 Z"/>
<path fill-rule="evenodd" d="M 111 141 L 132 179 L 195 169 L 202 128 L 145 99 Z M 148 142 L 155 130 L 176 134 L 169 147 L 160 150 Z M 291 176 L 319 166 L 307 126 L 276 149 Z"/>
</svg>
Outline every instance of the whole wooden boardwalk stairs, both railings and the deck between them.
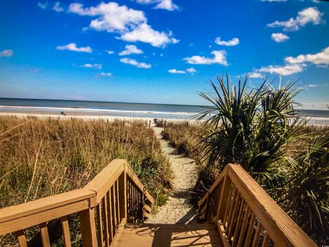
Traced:
<svg viewBox="0 0 329 247">
<path fill-rule="evenodd" d="M 74 223 L 87 247 L 316 246 L 240 165 L 226 165 L 199 201 L 202 224 L 145 224 L 153 203 L 130 165 L 114 160 L 82 189 L 0 209 L 0 237 L 14 233 L 24 247 L 62 238 L 71 247 Z M 27 241 L 34 226 L 40 231 Z"/>
</svg>

